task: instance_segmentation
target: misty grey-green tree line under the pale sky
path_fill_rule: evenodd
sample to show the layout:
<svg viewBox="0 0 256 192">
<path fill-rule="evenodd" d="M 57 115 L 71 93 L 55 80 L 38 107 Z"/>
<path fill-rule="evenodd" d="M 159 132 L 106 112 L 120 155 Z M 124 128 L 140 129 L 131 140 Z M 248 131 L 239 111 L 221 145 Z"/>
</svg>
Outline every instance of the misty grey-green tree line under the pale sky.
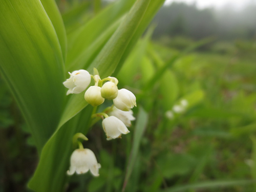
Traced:
<svg viewBox="0 0 256 192">
<path fill-rule="evenodd" d="M 251 2 L 240 10 L 231 6 L 218 9 L 198 9 L 196 4 L 172 3 L 156 15 L 158 24 L 153 37 L 188 36 L 194 40 L 208 36 L 234 40 L 256 37 L 256 4 Z"/>
</svg>

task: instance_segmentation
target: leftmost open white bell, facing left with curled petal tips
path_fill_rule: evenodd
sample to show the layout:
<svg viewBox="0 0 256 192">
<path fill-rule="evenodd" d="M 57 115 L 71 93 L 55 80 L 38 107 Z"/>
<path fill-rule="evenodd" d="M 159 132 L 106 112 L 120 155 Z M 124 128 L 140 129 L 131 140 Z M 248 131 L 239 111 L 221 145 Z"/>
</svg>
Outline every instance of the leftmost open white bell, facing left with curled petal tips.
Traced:
<svg viewBox="0 0 256 192">
<path fill-rule="evenodd" d="M 78 70 L 70 73 L 70 78 L 63 82 L 66 88 L 69 88 L 67 95 L 74 93 L 78 94 L 86 90 L 91 82 L 91 75 L 86 70 Z"/>
</svg>

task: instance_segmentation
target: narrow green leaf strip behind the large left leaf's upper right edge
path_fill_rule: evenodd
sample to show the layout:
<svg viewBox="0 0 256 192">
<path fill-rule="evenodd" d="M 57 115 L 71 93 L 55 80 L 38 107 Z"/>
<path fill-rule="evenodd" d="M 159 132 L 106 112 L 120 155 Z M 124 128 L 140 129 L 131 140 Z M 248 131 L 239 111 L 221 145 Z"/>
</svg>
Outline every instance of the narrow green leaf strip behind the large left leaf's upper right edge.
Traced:
<svg viewBox="0 0 256 192">
<path fill-rule="evenodd" d="M 41 0 L 41 3 L 47 12 L 47 15 L 51 19 L 52 25 L 58 36 L 59 44 L 62 50 L 63 60 L 65 60 L 67 53 L 67 36 L 58 7 L 54 0 Z"/>
</svg>

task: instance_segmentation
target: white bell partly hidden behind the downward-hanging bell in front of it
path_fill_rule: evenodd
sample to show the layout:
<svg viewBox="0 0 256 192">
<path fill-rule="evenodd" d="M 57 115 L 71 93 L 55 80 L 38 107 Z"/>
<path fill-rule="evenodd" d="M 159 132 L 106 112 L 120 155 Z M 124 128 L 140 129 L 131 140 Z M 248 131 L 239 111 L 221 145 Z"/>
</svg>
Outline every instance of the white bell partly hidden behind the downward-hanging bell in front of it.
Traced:
<svg viewBox="0 0 256 192">
<path fill-rule="evenodd" d="M 120 119 L 125 126 L 131 126 L 131 121 L 135 120 L 135 117 L 133 116 L 133 111 L 122 111 L 117 109 L 115 106 L 113 107 L 112 111 L 109 113 L 110 116 L 115 116 L 118 119 Z"/>
</svg>

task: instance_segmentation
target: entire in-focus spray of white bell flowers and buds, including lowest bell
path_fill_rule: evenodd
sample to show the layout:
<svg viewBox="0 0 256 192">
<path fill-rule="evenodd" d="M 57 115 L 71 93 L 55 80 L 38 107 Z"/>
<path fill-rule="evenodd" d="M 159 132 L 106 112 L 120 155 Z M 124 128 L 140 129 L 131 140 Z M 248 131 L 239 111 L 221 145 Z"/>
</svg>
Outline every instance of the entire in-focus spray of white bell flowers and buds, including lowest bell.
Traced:
<svg viewBox="0 0 256 192">
<path fill-rule="evenodd" d="M 87 89 L 84 93 L 84 99 L 92 106 L 102 104 L 105 99 L 113 100 L 114 105 L 106 108 L 102 113 L 92 115 L 93 118 L 101 117 L 103 119 L 104 117 L 102 127 L 107 140 L 121 138 L 122 134 L 130 133 L 127 127 L 131 126 L 131 121 L 135 120 L 131 109 L 136 106 L 136 97 L 131 91 L 126 89 L 118 90 L 117 78 L 107 77 L 101 79 L 96 69 L 94 69 L 94 75 L 91 75 L 86 70 L 78 70 L 69 74 L 70 78 L 63 82 L 64 86 L 69 89 L 67 95 L 83 92 L 88 88 L 91 79 L 93 79 L 94 86 Z M 87 140 L 85 136 L 82 136 L 82 138 Z M 99 176 L 98 169 L 100 164 L 97 162 L 94 153 L 88 148 L 83 148 L 81 143 L 79 144 L 79 149 L 72 153 L 70 161 L 71 166 L 67 172 L 68 175 L 73 175 L 75 172 L 77 174 L 87 173 L 90 169 L 94 176 Z"/>
</svg>

